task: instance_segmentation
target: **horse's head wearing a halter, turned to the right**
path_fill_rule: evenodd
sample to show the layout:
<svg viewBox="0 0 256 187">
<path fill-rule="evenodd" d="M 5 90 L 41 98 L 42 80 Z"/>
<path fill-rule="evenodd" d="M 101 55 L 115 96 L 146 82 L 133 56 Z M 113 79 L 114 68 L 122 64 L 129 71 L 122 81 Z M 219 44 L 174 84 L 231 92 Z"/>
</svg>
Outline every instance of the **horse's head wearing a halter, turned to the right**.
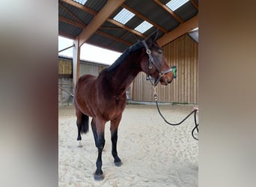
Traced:
<svg viewBox="0 0 256 187">
<path fill-rule="evenodd" d="M 162 54 L 161 47 L 156 43 L 158 30 L 143 40 L 144 58 L 141 61 L 141 69 L 147 74 L 147 79 L 156 86 L 168 85 L 176 76 L 176 67 L 169 67 L 168 62 Z M 152 79 L 154 82 L 152 82 Z"/>
</svg>

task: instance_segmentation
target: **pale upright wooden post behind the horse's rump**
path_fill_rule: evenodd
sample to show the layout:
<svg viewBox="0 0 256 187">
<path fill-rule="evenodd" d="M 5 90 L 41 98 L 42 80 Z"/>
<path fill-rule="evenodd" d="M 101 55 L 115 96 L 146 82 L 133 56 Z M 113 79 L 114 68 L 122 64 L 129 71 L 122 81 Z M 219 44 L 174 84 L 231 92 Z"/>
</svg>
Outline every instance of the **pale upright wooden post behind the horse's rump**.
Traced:
<svg viewBox="0 0 256 187">
<path fill-rule="evenodd" d="M 76 80 L 79 79 L 79 65 L 80 65 L 80 48 L 79 36 L 73 41 L 73 84 L 76 85 Z"/>
</svg>

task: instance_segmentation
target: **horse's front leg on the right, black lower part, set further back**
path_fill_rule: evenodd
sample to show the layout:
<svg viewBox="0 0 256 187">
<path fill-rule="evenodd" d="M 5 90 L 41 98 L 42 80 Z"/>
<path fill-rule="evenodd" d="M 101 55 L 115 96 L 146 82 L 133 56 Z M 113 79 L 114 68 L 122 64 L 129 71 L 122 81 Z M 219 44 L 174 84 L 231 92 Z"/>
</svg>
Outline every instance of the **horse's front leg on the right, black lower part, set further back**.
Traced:
<svg viewBox="0 0 256 187">
<path fill-rule="evenodd" d="M 110 131 L 111 131 L 111 141 L 112 141 L 112 156 L 114 157 L 115 166 L 121 166 L 122 162 L 118 156 L 117 143 L 118 143 L 118 126 L 121 121 L 121 115 L 115 120 L 111 121 Z"/>
</svg>

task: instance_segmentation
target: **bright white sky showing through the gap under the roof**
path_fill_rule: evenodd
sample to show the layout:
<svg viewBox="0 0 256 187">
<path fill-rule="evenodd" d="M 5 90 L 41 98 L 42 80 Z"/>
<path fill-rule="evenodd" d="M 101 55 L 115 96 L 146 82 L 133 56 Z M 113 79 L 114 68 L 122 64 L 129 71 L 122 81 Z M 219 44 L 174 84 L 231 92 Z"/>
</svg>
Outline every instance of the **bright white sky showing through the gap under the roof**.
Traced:
<svg viewBox="0 0 256 187">
<path fill-rule="evenodd" d="M 67 37 L 58 36 L 58 51 L 73 45 L 73 40 Z M 64 55 L 73 58 L 73 48 L 59 52 L 58 55 Z M 121 55 L 120 52 L 114 52 L 109 49 L 103 49 L 84 43 L 80 49 L 80 59 L 94 61 L 100 64 L 111 65 Z"/>
</svg>

